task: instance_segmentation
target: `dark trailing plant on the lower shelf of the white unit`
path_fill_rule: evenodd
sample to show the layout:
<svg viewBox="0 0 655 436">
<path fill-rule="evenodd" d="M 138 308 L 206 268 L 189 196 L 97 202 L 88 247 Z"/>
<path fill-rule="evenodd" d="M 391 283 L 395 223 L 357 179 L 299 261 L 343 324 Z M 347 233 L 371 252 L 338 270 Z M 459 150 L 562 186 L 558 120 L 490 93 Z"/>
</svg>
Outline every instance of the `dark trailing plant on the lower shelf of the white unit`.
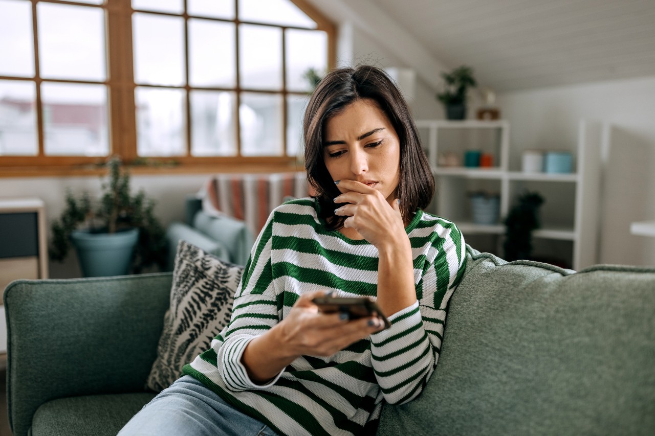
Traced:
<svg viewBox="0 0 655 436">
<path fill-rule="evenodd" d="M 532 232 L 541 227 L 539 208 L 544 203 L 544 197 L 538 192 L 525 192 L 519 196 L 517 204 L 510 209 L 504 224 L 506 225 L 505 241 L 503 242 L 506 261 L 529 259 L 532 253 Z"/>
</svg>

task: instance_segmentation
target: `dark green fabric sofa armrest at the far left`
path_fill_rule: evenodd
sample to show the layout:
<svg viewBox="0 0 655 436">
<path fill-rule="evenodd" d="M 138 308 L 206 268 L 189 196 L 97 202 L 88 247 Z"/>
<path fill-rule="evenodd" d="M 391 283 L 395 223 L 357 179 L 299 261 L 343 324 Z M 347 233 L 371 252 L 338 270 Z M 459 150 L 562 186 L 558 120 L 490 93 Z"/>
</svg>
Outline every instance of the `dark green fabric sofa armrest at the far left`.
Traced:
<svg viewBox="0 0 655 436">
<path fill-rule="evenodd" d="M 4 303 L 14 435 L 27 434 L 46 401 L 144 391 L 171 283 L 170 273 L 10 283 Z"/>
</svg>

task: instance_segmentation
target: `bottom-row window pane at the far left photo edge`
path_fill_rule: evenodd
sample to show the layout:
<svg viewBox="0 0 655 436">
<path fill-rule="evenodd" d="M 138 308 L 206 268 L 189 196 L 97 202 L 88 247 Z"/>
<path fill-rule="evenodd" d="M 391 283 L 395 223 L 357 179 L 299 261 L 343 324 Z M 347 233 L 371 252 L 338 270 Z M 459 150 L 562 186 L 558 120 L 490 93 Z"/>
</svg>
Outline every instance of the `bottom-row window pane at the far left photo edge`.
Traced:
<svg viewBox="0 0 655 436">
<path fill-rule="evenodd" d="M 0 81 L 0 156 L 35 156 L 37 138 L 34 82 Z"/>
</svg>

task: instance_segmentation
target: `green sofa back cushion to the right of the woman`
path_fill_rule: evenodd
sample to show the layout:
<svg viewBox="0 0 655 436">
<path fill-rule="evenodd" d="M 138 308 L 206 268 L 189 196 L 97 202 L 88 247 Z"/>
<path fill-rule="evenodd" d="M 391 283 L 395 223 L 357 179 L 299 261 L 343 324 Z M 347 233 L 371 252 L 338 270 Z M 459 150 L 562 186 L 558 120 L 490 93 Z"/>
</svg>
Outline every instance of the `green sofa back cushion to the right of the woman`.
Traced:
<svg viewBox="0 0 655 436">
<path fill-rule="evenodd" d="M 379 434 L 655 434 L 655 269 L 467 258 L 436 371 Z"/>
</svg>

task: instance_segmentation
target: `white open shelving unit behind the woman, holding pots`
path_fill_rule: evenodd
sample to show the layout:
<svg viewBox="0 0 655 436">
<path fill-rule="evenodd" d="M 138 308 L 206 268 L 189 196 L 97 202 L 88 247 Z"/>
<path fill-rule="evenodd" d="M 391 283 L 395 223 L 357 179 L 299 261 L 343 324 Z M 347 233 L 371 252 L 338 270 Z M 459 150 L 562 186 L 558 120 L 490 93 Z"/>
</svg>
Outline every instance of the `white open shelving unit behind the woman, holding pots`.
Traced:
<svg viewBox="0 0 655 436">
<path fill-rule="evenodd" d="M 535 254 L 560 258 L 575 270 L 596 263 L 599 215 L 600 144 L 603 126 L 581 120 L 574 149 L 574 172 L 569 174 L 524 173 L 510 168 L 510 124 L 506 120 L 417 120 L 432 171 L 437 181 L 436 198 L 430 211 L 457 223 L 464 237 L 493 239 L 493 251 L 502 257 L 502 236 L 507 216 L 519 194 L 539 192 L 545 202 L 540 208 L 542 227 L 533 232 Z M 480 150 L 493 156 L 493 166 L 467 168 L 440 166 L 440 155 Z M 520 158 L 513 162 L 520 162 Z M 495 225 L 472 221 L 468 192 L 486 191 L 500 195 L 500 216 Z M 538 245 L 542 252 L 538 253 Z M 475 246 L 475 245 L 474 245 Z"/>
</svg>

